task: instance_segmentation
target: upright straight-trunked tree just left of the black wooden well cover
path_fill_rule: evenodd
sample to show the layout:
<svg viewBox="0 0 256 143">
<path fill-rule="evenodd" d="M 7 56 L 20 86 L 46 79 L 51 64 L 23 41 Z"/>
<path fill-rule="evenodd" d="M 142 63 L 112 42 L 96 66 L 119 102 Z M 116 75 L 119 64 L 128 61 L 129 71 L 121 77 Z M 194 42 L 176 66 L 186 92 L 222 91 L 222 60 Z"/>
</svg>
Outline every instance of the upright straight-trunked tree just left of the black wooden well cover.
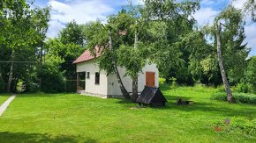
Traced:
<svg viewBox="0 0 256 143">
<path fill-rule="evenodd" d="M 112 24 L 119 32 L 121 43 L 117 50 L 117 63 L 125 68 L 125 74 L 132 78 L 132 102 L 136 102 L 138 98 L 138 76 L 148 60 L 142 39 L 146 34 L 145 21 L 138 15 L 139 7 L 131 6 L 127 10 L 120 11 L 114 17 L 115 22 Z"/>
</svg>

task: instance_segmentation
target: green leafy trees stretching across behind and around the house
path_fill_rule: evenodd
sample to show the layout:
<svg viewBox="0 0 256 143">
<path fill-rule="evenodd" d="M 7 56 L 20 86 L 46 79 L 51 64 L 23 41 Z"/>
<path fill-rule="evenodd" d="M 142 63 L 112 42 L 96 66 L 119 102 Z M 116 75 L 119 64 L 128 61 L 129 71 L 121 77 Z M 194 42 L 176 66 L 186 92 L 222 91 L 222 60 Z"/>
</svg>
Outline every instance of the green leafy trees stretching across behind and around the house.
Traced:
<svg viewBox="0 0 256 143">
<path fill-rule="evenodd" d="M 11 6 L 16 4 L 20 5 Z M 101 48 L 97 62 L 102 70 L 118 75 L 120 66 L 132 77 L 132 97 L 120 81 L 127 98 L 138 96 L 136 80 L 147 62 L 156 63 L 168 83 L 218 86 L 222 75 L 215 24 L 222 19 L 219 36 L 228 81 L 241 92 L 255 93 L 256 57 L 248 57 L 250 47 L 244 43 L 245 11 L 229 5 L 214 25 L 199 28 L 192 17 L 199 9 L 200 3 L 195 1 L 150 0 L 142 6 L 124 7 L 109 16 L 106 24 L 72 21 L 56 38 L 46 39 L 49 8 L 29 9 L 25 1 L 6 1 L 1 9 L 0 61 L 8 62 L 0 63 L 0 89 L 16 91 L 22 82 L 26 91 L 63 92 L 64 81 L 76 77 L 72 61 L 86 49 L 95 54 L 94 46 Z"/>
</svg>

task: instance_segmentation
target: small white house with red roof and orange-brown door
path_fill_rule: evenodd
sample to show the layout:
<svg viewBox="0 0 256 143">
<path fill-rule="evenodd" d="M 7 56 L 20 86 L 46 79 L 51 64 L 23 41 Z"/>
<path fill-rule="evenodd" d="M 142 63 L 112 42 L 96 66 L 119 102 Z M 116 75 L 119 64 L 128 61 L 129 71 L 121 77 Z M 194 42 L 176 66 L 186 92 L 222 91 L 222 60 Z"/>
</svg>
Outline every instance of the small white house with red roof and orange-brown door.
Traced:
<svg viewBox="0 0 256 143">
<path fill-rule="evenodd" d="M 98 48 L 96 48 L 98 49 Z M 117 82 L 116 75 L 106 75 L 106 72 L 100 70 L 99 66 L 95 63 L 95 58 L 100 54 L 96 53 L 92 56 L 87 50 L 79 56 L 79 58 L 73 62 L 76 64 L 77 71 L 77 90 L 79 93 L 93 96 L 93 97 L 122 97 L 121 89 Z M 125 88 L 128 92 L 132 93 L 132 79 L 131 77 L 124 76 L 125 69 L 118 67 L 119 74 L 122 78 Z M 80 75 L 85 76 L 84 87 L 79 85 Z M 159 86 L 159 72 L 155 64 L 147 64 L 142 68 L 142 73 L 138 77 L 138 92 L 140 93 L 145 86 L 158 87 Z"/>
</svg>

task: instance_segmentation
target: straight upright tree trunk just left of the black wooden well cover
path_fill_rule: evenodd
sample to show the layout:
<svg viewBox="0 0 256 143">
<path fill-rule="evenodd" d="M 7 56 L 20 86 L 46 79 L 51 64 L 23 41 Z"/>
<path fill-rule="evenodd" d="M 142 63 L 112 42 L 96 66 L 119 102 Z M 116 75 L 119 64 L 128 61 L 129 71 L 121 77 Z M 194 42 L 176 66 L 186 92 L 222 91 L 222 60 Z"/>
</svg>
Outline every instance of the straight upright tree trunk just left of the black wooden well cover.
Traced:
<svg viewBox="0 0 256 143">
<path fill-rule="evenodd" d="M 138 22 L 136 21 L 136 25 L 138 25 Z M 138 32 L 135 31 L 134 35 L 134 48 L 138 48 Z M 134 65 L 136 66 L 136 65 Z M 135 75 L 135 77 L 132 78 L 132 102 L 136 102 L 136 99 L 138 98 L 138 74 Z"/>
</svg>

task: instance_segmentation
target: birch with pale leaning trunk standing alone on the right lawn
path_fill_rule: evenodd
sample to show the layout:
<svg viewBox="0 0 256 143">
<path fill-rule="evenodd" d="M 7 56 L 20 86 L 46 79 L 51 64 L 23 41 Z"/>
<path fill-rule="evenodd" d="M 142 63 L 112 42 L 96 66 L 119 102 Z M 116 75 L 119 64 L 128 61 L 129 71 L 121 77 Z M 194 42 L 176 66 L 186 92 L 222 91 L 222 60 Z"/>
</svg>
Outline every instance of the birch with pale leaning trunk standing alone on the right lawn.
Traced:
<svg viewBox="0 0 256 143">
<path fill-rule="evenodd" d="M 237 47 L 238 49 L 239 47 L 242 47 L 241 49 L 245 51 L 245 55 L 246 53 L 248 55 L 249 51 L 246 52 L 245 46 L 240 46 L 242 44 L 242 41 L 240 41 L 241 37 L 245 37 L 244 25 L 245 22 L 242 12 L 230 5 L 215 18 L 215 46 L 217 49 L 217 58 L 222 75 L 222 82 L 224 84 L 227 94 L 227 101 L 229 103 L 235 103 L 236 100 L 233 97 L 230 89 L 230 84 L 227 78 L 226 70 L 224 68 L 225 59 L 222 57 L 222 55 L 224 54 L 222 53 L 222 51 L 223 49 L 227 49 L 225 51 L 228 52 L 231 49 L 236 50 Z M 239 41 L 238 46 L 237 40 Z M 230 53 L 230 55 L 226 55 L 225 57 L 227 59 L 230 59 L 230 57 L 234 57 L 231 54 L 236 53 Z M 235 61 L 236 59 L 233 60 Z"/>
</svg>

